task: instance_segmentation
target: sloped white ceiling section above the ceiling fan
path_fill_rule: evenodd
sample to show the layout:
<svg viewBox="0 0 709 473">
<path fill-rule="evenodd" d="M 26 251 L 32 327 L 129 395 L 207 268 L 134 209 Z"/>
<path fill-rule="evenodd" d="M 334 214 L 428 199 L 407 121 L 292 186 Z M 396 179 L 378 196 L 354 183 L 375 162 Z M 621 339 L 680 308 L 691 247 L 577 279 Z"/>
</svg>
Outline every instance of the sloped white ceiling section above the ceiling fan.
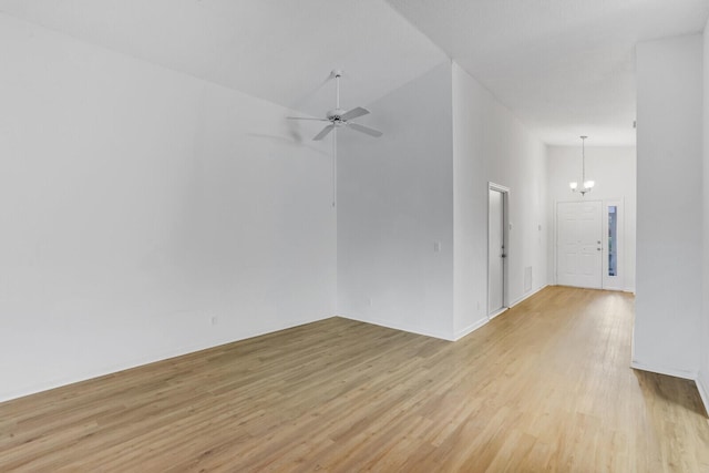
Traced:
<svg viewBox="0 0 709 473">
<path fill-rule="evenodd" d="M 383 0 L 0 0 L 0 12 L 322 116 L 446 61 Z M 316 128 L 317 130 L 317 126 Z"/>
</svg>

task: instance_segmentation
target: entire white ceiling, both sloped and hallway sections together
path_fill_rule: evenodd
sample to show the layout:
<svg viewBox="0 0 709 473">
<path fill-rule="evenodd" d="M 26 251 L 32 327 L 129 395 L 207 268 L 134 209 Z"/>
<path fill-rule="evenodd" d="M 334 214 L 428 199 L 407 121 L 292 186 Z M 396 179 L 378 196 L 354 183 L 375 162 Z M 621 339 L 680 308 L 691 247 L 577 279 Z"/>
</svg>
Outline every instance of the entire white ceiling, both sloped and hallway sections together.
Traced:
<svg viewBox="0 0 709 473">
<path fill-rule="evenodd" d="M 709 0 L 387 1 L 0 0 L 0 12 L 312 115 L 332 107 L 335 68 L 349 107 L 448 55 L 541 140 L 573 145 L 634 144 L 636 42 L 709 17 Z"/>
</svg>

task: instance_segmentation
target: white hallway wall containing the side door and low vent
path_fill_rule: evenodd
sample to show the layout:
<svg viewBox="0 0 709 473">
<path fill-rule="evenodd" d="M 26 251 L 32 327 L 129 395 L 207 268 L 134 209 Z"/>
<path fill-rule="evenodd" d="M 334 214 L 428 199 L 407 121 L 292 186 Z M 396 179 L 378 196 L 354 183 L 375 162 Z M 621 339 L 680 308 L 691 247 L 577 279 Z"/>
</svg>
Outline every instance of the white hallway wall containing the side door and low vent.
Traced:
<svg viewBox="0 0 709 473">
<path fill-rule="evenodd" d="M 508 301 L 547 284 L 546 167 L 542 142 L 453 64 L 455 336 L 487 320 L 487 183 L 510 192 Z M 532 286 L 524 287 L 525 268 Z"/>
</svg>

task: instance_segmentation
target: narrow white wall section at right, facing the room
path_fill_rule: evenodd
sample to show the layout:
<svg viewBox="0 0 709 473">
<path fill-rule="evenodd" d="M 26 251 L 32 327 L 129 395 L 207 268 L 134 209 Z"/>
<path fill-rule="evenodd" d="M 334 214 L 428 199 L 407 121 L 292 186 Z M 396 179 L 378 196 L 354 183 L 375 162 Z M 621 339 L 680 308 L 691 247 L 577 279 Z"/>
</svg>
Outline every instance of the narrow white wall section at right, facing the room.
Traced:
<svg viewBox="0 0 709 473">
<path fill-rule="evenodd" d="M 637 90 L 633 364 L 695 378 L 702 298 L 701 35 L 638 44 Z"/>
</svg>

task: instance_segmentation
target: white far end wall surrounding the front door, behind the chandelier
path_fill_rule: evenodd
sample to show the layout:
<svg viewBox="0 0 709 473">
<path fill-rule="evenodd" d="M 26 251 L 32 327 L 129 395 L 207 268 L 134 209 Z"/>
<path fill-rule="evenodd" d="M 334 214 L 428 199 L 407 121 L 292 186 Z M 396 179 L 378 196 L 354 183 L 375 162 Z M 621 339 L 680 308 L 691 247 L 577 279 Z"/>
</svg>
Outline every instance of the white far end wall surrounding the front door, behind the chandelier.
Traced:
<svg viewBox="0 0 709 473">
<path fill-rule="evenodd" d="M 569 181 L 580 181 L 580 138 L 578 146 L 547 146 L 548 169 L 548 280 L 556 282 L 555 218 L 557 202 L 621 199 L 624 206 L 624 247 L 619 265 L 623 290 L 635 291 L 636 255 L 636 148 L 635 146 L 589 146 L 586 140 L 586 176 L 596 182 L 590 194 L 571 192 Z"/>
</svg>

